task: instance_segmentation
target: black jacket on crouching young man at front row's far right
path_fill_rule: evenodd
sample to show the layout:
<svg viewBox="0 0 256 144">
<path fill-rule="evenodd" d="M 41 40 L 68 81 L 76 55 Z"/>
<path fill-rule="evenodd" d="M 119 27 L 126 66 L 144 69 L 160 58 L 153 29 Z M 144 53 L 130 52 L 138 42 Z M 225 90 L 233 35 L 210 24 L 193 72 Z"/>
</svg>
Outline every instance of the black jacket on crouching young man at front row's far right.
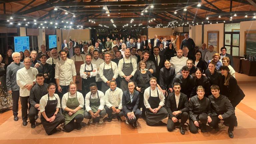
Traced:
<svg viewBox="0 0 256 144">
<path fill-rule="evenodd" d="M 226 119 L 235 114 L 235 109 L 226 96 L 220 95 L 215 98 L 213 95 L 209 95 L 208 98 L 211 102 L 212 116 L 221 115 L 223 119 Z"/>
</svg>

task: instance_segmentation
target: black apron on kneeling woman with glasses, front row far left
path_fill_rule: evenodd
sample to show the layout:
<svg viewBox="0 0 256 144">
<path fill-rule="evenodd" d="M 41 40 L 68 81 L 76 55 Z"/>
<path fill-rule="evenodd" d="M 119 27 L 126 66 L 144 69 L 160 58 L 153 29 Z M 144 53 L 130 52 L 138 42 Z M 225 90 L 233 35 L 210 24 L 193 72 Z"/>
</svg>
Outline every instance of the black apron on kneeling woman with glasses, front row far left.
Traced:
<svg viewBox="0 0 256 144">
<path fill-rule="evenodd" d="M 54 96 L 54 94 L 53 94 Z M 55 97 L 55 96 L 54 96 Z M 50 100 L 49 94 L 48 94 L 48 101 L 45 106 L 45 114 L 48 118 L 52 117 L 56 111 L 56 106 L 58 104 L 57 98 L 55 100 Z M 63 123 L 65 121 L 65 118 L 58 112 L 55 120 L 53 122 L 48 122 L 41 114 L 41 123 L 44 127 L 44 130 L 47 134 L 50 134 L 54 128 L 56 128 L 59 124 Z"/>
</svg>

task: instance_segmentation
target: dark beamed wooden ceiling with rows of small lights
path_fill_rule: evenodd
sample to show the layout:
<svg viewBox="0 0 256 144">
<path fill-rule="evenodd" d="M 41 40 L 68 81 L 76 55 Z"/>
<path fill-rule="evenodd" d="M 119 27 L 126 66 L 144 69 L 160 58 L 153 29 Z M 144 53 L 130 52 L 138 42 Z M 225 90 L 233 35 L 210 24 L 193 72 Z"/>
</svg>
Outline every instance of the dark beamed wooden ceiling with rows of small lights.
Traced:
<svg viewBox="0 0 256 144">
<path fill-rule="evenodd" d="M 255 0 L 0 0 L 0 23 L 31 28 L 177 27 L 255 20 Z"/>
</svg>

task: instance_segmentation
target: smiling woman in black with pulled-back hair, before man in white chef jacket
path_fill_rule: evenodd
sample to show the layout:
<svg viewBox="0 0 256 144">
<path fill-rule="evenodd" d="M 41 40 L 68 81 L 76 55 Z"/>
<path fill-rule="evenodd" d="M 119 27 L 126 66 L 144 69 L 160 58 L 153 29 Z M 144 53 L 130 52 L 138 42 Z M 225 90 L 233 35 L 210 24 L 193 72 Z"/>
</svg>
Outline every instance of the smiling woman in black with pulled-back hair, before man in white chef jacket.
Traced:
<svg viewBox="0 0 256 144">
<path fill-rule="evenodd" d="M 165 60 L 164 67 L 159 72 L 159 85 L 165 95 L 173 92 L 172 81 L 175 77 L 175 68 L 171 67 L 170 60 Z"/>
</svg>

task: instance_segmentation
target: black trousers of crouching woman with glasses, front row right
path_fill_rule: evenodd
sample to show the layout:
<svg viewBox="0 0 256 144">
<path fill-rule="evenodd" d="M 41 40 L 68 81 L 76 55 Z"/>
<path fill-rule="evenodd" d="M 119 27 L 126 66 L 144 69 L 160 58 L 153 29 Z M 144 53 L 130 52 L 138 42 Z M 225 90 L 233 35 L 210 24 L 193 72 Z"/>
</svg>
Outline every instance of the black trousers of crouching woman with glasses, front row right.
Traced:
<svg viewBox="0 0 256 144">
<path fill-rule="evenodd" d="M 202 124 L 199 124 L 200 127 L 206 126 L 207 123 L 207 114 L 206 113 L 201 113 L 196 117 L 197 121 L 200 121 Z M 192 119 L 189 119 L 189 131 L 191 133 L 197 133 L 198 127 L 195 126 L 194 121 Z"/>
</svg>

